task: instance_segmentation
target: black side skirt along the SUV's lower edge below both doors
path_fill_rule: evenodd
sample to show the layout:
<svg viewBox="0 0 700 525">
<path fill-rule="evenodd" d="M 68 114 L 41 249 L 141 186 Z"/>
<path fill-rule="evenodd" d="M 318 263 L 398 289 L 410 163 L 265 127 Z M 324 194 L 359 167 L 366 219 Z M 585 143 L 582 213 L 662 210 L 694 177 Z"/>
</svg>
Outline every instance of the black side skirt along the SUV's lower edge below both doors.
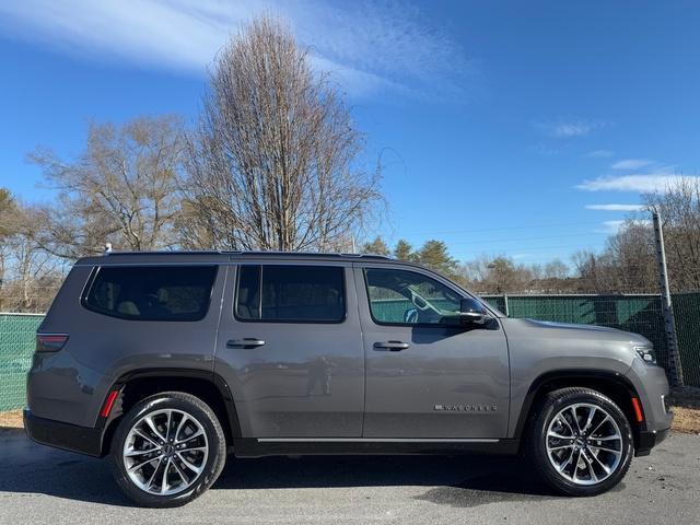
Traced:
<svg viewBox="0 0 700 525">
<path fill-rule="evenodd" d="M 420 440 L 420 439 L 345 439 L 345 438 L 287 438 L 235 439 L 236 457 L 288 455 L 353 455 L 353 454 L 499 454 L 514 455 L 520 440 Z"/>
</svg>

